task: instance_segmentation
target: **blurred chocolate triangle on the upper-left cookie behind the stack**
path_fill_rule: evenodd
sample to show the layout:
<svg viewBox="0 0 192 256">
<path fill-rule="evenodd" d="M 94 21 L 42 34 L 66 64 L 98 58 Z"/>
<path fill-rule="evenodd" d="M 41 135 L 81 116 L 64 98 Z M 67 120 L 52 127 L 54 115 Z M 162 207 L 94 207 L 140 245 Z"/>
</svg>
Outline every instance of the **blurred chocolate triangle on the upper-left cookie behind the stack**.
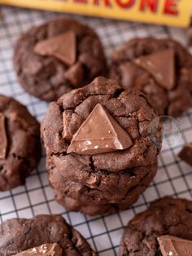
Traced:
<svg viewBox="0 0 192 256">
<path fill-rule="evenodd" d="M 72 31 L 55 38 L 37 42 L 34 52 L 41 56 L 52 56 L 68 66 L 76 62 L 76 34 Z"/>
</svg>

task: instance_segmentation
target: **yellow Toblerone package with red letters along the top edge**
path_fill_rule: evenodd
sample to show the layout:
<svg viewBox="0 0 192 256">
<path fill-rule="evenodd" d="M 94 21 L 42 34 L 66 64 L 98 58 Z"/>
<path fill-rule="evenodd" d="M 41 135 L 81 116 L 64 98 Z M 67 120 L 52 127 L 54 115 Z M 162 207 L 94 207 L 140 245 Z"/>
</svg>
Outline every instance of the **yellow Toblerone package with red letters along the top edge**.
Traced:
<svg viewBox="0 0 192 256">
<path fill-rule="evenodd" d="M 0 0 L 0 4 L 185 27 L 192 0 Z"/>
</svg>

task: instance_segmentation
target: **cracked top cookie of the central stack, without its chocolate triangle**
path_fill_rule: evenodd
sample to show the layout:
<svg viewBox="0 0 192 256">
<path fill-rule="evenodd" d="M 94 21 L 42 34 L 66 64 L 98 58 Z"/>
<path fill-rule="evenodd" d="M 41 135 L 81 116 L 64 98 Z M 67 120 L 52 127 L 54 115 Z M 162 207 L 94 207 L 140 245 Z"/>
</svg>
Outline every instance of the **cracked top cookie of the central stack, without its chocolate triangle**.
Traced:
<svg viewBox="0 0 192 256">
<path fill-rule="evenodd" d="M 130 148 L 93 156 L 67 154 L 72 136 L 89 116 L 96 104 L 103 104 L 112 117 L 133 139 Z M 152 143 L 148 127 L 157 117 L 142 92 L 124 90 L 115 81 L 98 77 L 88 86 L 63 95 L 50 104 L 41 124 L 41 138 L 46 154 L 59 170 L 84 170 L 116 172 L 135 166 L 149 166 L 154 163 L 161 147 L 160 126 Z"/>
</svg>

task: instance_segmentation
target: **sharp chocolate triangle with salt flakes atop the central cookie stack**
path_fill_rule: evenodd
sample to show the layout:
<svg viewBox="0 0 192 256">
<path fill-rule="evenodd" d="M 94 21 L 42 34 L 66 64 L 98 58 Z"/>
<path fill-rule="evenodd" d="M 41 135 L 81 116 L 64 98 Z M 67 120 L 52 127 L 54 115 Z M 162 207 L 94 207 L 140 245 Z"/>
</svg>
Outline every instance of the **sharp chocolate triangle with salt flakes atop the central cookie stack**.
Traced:
<svg viewBox="0 0 192 256">
<path fill-rule="evenodd" d="M 103 105 L 97 104 L 76 134 L 73 135 L 68 153 L 96 155 L 123 150 L 132 145 L 129 134 Z"/>
</svg>

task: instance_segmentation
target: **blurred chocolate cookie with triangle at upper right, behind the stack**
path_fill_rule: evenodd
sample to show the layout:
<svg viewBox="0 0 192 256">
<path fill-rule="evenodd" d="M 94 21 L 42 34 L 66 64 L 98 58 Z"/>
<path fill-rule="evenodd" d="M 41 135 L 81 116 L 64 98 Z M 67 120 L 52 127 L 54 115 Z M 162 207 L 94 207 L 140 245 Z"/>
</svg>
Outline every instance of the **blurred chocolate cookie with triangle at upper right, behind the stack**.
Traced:
<svg viewBox="0 0 192 256">
<path fill-rule="evenodd" d="M 111 58 L 110 77 L 142 90 L 159 115 L 178 117 L 192 106 L 192 56 L 172 39 L 135 38 Z"/>
</svg>

